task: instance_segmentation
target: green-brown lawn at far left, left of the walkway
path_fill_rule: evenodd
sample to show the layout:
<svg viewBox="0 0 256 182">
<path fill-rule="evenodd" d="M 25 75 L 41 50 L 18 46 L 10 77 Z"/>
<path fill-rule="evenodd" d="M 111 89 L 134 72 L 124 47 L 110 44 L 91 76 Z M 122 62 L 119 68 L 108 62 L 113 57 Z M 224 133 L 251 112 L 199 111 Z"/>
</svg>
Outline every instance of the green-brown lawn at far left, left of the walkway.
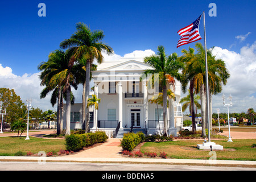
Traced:
<svg viewBox="0 0 256 182">
<path fill-rule="evenodd" d="M 57 152 L 60 149 L 65 150 L 65 140 L 63 139 L 42 139 L 30 137 L 1 137 L 0 138 L 0 156 L 15 156 L 16 152 L 22 152 L 26 155 L 28 151 L 37 154 L 39 151 Z"/>
</svg>

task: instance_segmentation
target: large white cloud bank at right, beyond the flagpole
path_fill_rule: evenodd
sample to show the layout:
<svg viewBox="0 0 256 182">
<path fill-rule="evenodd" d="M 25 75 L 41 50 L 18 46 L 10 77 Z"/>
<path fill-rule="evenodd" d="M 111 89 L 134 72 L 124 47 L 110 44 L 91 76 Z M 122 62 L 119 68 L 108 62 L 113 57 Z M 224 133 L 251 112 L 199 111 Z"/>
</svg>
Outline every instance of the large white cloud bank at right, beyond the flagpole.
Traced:
<svg viewBox="0 0 256 182">
<path fill-rule="evenodd" d="M 213 96 L 213 107 L 223 107 L 222 94 L 226 96 L 232 94 L 233 106 L 230 112 L 247 111 L 249 107 L 256 107 L 256 42 L 251 46 L 241 48 L 240 53 L 228 51 L 220 47 L 214 47 L 213 55 L 217 59 L 222 59 L 230 72 L 228 84 L 223 86 L 223 90 L 217 96 Z M 215 111 L 216 112 L 216 111 Z"/>
</svg>

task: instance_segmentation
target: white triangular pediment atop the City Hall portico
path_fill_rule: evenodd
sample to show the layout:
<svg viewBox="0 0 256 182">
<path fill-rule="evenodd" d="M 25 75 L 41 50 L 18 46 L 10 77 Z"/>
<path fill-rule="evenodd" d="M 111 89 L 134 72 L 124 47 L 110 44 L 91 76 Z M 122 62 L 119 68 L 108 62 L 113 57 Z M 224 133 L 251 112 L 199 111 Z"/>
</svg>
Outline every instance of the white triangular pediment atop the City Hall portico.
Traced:
<svg viewBox="0 0 256 182">
<path fill-rule="evenodd" d="M 102 63 L 104 64 L 104 63 Z M 102 66 L 102 65 L 101 65 Z M 144 71 L 146 69 L 152 69 L 152 67 L 150 67 L 150 65 L 146 64 L 146 63 L 142 63 L 141 61 L 136 61 L 136 60 L 129 60 L 129 61 L 125 61 L 119 64 L 115 64 L 113 66 L 110 66 L 108 68 L 104 68 L 101 69 L 102 71 Z"/>
</svg>

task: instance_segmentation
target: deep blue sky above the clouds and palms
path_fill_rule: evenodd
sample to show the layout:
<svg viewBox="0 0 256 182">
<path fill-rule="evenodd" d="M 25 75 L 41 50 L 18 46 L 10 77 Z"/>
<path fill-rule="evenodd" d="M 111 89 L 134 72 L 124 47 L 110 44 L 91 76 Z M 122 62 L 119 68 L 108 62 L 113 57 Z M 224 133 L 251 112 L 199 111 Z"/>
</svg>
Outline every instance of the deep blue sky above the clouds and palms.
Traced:
<svg viewBox="0 0 256 182">
<path fill-rule="evenodd" d="M 41 2 L 46 4 L 46 17 L 38 16 Z M 216 17 L 208 15 L 212 2 L 217 5 Z M 203 11 L 207 48 L 220 47 L 222 51 L 227 49 L 228 53 L 241 55 L 243 47 L 253 47 L 256 40 L 255 0 L 3 1 L 0 7 L 0 64 L 3 68 L 10 67 L 16 76 L 38 73 L 38 64 L 47 61 L 49 52 L 59 49 L 60 42 L 76 31 L 77 22 L 88 24 L 92 30 L 103 30 L 104 43 L 117 55 L 146 49 L 156 52 L 159 45 L 166 48 L 167 54 L 181 55 L 181 49 L 195 47 L 195 43 L 176 48 L 180 38 L 177 31 L 196 20 Z M 203 37 L 203 19 L 199 31 Z M 199 42 L 204 43 L 204 40 Z M 254 53 L 254 47 L 251 49 Z"/>
</svg>

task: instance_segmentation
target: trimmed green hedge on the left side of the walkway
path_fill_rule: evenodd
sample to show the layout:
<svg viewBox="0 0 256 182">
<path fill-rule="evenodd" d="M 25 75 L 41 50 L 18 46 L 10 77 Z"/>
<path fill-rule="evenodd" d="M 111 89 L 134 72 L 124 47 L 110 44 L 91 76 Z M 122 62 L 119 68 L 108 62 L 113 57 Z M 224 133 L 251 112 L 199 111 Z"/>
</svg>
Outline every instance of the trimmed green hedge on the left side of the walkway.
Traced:
<svg viewBox="0 0 256 182">
<path fill-rule="evenodd" d="M 66 149 L 77 151 L 84 147 L 92 146 L 95 143 L 106 142 L 108 136 L 104 131 L 96 131 L 95 133 L 71 134 L 65 137 Z"/>
</svg>

